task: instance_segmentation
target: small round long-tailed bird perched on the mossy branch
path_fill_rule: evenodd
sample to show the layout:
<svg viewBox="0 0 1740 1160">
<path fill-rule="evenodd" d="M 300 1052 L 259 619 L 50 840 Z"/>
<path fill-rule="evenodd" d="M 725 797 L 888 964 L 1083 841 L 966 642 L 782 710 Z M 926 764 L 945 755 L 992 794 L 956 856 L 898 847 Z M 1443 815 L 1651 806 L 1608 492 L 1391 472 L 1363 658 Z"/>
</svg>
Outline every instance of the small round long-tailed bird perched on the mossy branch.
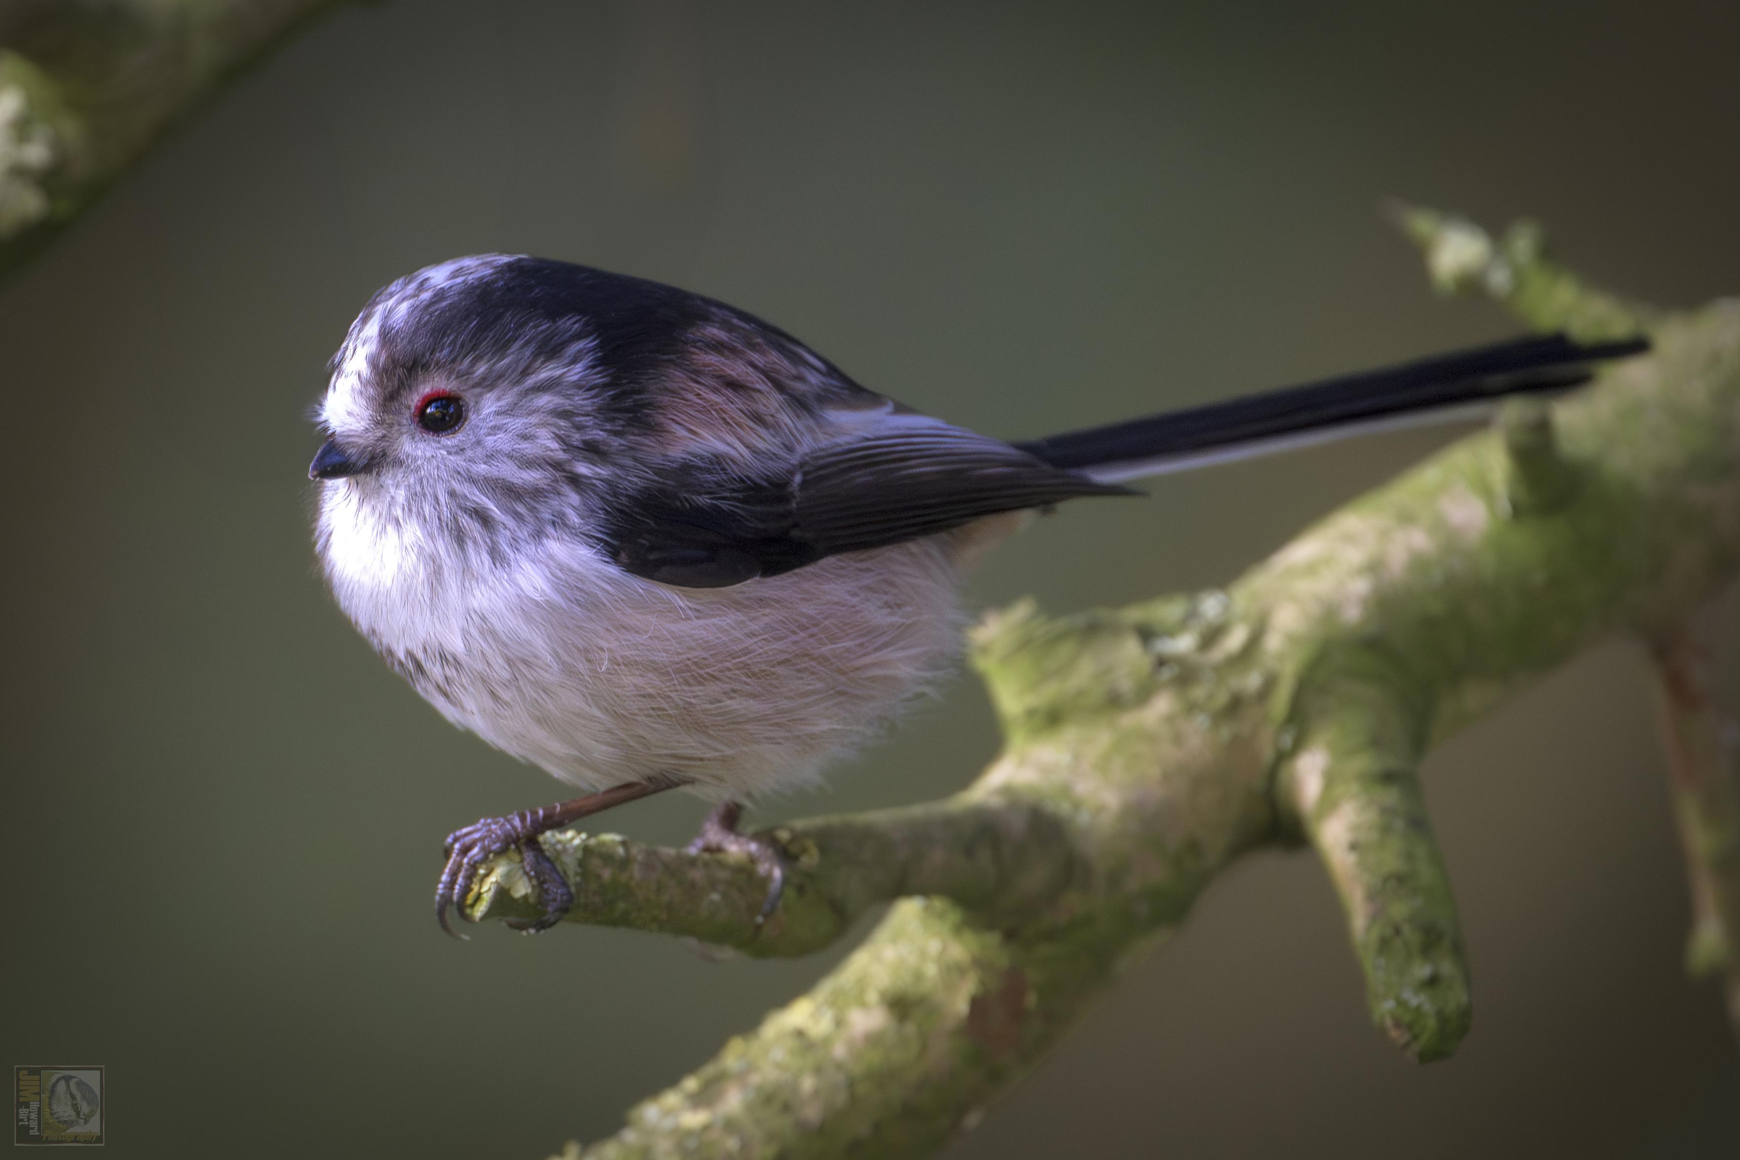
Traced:
<svg viewBox="0 0 1740 1160">
<path fill-rule="evenodd" d="M 447 720 L 585 790 L 447 837 L 435 913 L 538 835 L 682 788 L 693 850 L 769 880 L 746 798 L 814 781 L 959 652 L 960 583 L 1028 513 L 1124 480 L 1552 393 L 1643 339 L 1524 337 L 1006 443 L 870 391 L 724 303 L 485 254 L 379 290 L 332 357 L 315 544 L 339 607 Z"/>
</svg>

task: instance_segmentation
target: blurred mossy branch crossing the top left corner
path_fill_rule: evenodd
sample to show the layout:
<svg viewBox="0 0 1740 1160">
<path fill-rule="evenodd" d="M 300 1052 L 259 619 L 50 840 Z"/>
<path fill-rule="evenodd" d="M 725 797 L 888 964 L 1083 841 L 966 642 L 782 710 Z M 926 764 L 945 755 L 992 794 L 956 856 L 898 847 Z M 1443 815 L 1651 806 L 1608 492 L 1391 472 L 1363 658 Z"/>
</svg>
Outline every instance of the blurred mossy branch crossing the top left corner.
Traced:
<svg viewBox="0 0 1740 1160">
<path fill-rule="evenodd" d="M 164 132 L 338 0 L 0 5 L 0 280 Z"/>
</svg>

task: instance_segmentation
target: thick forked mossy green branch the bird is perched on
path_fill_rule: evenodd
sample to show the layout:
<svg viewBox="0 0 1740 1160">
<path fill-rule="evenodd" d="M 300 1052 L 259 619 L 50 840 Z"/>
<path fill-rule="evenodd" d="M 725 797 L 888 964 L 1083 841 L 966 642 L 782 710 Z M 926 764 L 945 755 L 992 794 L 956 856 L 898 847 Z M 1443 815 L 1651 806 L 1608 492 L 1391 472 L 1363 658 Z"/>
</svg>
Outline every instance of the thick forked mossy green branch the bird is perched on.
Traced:
<svg viewBox="0 0 1740 1160">
<path fill-rule="evenodd" d="M 1735 577 L 1740 303 L 1658 311 L 1550 263 L 1538 230 L 1493 243 L 1429 210 L 1401 217 L 1441 283 L 1542 329 L 1644 329 L 1653 353 L 1556 405 L 1509 407 L 1227 591 L 990 617 L 974 649 L 1002 757 L 947 802 L 776 831 L 797 868 L 759 934 L 746 863 L 553 840 L 571 918 L 750 953 L 802 953 L 872 903 L 927 896 L 586 1157 L 931 1151 L 1232 859 L 1300 837 L 1347 904 L 1376 1023 L 1418 1059 L 1456 1047 L 1469 970 L 1418 763 L 1597 640 L 1672 640 Z M 1728 847 L 1707 849 L 1726 875 Z M 513 873 L 498 864 L 473 917 L 515 913 Z"/>
</svg>

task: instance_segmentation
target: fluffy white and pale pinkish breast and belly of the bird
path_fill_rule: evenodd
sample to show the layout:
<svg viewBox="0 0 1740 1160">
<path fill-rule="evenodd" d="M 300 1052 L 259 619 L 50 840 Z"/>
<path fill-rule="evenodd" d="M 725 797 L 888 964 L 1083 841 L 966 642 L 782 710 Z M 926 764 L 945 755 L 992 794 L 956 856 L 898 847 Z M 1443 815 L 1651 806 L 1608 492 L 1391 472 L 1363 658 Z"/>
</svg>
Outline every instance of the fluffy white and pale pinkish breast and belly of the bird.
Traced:
<svg viewBox="0 0 1740 1160">
<path fill-rule="evenodd" d="M 564 539 L 508 562 L 432 557 L 341 489 L 320 513 L 339 605 L 451 722 L 602 790 L 708 797 L 814 779 L 952 666 L 955 537 L 734 588 L 670 588 Z"/>
</svg>

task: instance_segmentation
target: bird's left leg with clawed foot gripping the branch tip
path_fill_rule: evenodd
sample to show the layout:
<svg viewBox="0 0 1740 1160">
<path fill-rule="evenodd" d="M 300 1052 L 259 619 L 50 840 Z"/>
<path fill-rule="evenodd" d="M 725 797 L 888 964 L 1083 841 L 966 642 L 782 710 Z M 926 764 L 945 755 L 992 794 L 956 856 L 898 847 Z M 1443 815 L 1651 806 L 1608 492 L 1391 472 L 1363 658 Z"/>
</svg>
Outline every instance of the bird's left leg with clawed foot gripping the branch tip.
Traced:
<svg viewBox="0 0 1740 1160">
<path fill-rule="evenodd" d="M 630 781 L 600 793 L 588 793 L 571 802 L 557 802 L 543 809 L 520 810 L 506 817 L 484 817 L 470 826 L 463 826 L 447 835 L 442 856 L 447 864 L 435 883 L 435 920 L 447 934 L 454 929 L 447 925 L 447 908 L 456 899 L 472 892 L 472 880 L 496 854 L 506 854 L 519 847 L 520 861 L 525 864 L 525 877 L 538 883 L 538 897 L 543 903 L 543 917 L 536 922 L 508 922 L 515 930 L 536 934 L 562 922 L 562 915 L 574 904 L 574 892 L 567 887 L 562 871 L 555 868 L 550 856 L 538 843 L 538 835 L 560 830 L 581 817 L 590 817 L 612 805 L 651 797 L 663 790 L 673 790 L 680 781 Z M 461 911 L 463 913 L 463 911 Z M 465 937 L 456 934 L 454 937 Z"/>
</svg>

